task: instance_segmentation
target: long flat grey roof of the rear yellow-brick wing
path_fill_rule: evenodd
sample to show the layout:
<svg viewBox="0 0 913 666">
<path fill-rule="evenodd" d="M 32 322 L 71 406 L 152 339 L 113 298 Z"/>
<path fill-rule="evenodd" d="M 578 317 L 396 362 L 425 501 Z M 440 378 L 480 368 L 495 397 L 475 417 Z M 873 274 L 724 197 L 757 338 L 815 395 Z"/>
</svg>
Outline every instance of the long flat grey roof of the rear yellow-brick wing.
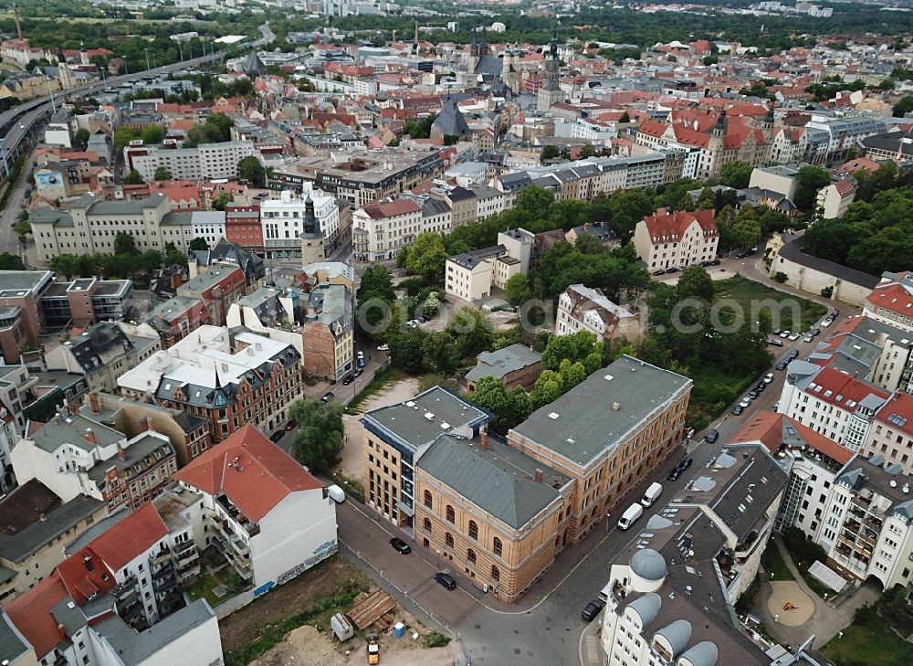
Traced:
<svg viewBox="0 0 913 666">
<path fill-rule="evenodd" d="M 614 449 L 631 428 L 690 384 L 685 376 L 624 355 L 534 411 L 514 430 L 586 465 L 604 450 Z"/>
</svg>

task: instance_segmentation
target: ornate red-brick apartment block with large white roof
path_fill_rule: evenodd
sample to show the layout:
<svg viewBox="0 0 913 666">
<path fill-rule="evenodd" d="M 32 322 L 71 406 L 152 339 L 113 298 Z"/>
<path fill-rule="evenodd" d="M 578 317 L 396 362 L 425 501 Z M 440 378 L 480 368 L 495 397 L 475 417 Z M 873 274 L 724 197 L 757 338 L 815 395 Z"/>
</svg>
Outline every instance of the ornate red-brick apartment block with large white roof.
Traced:
<svg viewBox="0 0 913 666">
<path fill-rule="evenodd" d="M 284 424 L 301 379 L 293 344 L 205 325 L 121 375 L 118 386 L 125 396 L 204 418 L 219 442 L 245 424 L 270 431 Z"/>
</svg>

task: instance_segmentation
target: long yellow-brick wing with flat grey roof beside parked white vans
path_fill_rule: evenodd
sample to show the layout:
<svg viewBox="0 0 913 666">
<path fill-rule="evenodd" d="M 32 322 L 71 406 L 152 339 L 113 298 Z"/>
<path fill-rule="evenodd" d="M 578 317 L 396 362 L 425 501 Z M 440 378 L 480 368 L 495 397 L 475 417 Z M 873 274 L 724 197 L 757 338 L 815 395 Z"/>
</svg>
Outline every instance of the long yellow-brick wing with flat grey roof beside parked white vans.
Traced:
<svg viewBox="0 0 913 666">
<path fill-rule="evenodd" d="M 677 450 L 690 393 L 687 377 L 624 355 L 509 431 L 510 446 L 574 481 L 560 549 Z"/>
</svg>

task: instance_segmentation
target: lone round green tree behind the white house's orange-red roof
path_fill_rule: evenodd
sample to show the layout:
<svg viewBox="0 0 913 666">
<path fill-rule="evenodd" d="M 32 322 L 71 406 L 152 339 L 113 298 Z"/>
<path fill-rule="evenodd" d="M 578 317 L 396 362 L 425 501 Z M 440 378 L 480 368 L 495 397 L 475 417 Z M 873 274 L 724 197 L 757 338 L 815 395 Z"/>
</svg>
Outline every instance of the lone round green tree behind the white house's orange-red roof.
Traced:
<svg viewBox="0 0 913 666">
<path fill-rule="evenodd" d="M 342 405 L 299 400 L 289 407 L 289 418 L 299 424 L 291 454 L 315 473 L 330 473 L 343 446 Z"/>
</svg>

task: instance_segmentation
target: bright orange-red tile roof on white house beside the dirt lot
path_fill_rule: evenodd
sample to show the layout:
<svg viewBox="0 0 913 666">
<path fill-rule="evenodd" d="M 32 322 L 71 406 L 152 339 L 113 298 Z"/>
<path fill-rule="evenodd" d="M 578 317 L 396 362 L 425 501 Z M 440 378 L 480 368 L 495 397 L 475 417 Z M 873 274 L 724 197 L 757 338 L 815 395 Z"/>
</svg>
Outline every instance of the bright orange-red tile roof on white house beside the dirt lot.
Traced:
<svg viewBox="0 0 913 666">
<path fill-rule="evenodd" d="M 290 492 L 322 488 L 257 428 L 247 425 L 174 474 L 178 481 L 226 497 L 255 523 Z"/>
</svg>

